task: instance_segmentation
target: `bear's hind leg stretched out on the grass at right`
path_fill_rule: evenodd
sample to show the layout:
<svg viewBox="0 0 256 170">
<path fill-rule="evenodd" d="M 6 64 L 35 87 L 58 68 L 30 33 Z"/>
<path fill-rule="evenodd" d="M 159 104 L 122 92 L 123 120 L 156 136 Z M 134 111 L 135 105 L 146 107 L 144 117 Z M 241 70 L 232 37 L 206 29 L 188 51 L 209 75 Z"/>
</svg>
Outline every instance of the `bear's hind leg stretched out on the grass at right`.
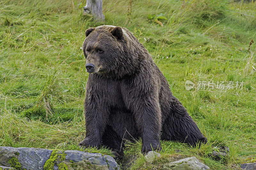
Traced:
<svg viewBox="0 0 256 170">
<path fill-rule="evenodd" d="M 188 115 L 185 107 L 180 102 L 176 104 L 167 115 L 164 115 L 161 139 L 188 143 L 191 146 L 195 146 L 196 143 L 206 143 L 206 137 Z"/>
</svg>

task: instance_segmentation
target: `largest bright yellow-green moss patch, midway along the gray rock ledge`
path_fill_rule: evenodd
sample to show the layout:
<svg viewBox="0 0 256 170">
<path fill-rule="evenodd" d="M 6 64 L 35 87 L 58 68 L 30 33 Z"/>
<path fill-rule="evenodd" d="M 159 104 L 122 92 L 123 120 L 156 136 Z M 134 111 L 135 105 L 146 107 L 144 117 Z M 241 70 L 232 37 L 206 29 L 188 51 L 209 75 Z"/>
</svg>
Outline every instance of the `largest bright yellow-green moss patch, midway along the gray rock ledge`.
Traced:
<svg viewBox="0 0 256 170">
<path fill-rule="evenodd" d="M 57 150 L 52 151 L 52 154 L 51 154 L 50 158 L 44 164 L 44 170 L 53 170 L 53 166 L 55 164 L 55 161 L 58 158 L 60 158 L 61 161 L 65 160 L 67 154 L 65 154 L 64 151 L 62 151 L 62 153 L 56 153 L 56 152 L 57 152 Z M 64 166 L 65 164 L 64 165 L 63 164 L 64 163 L 58 164 L 58 167 L 61 166 L 61 168 L 62 168 L 61 170 L 68 169 L 68 166 L 67 165 Z M 60 167 L 59 167 L 59 169 L 60 169 Z"/>
</svg>

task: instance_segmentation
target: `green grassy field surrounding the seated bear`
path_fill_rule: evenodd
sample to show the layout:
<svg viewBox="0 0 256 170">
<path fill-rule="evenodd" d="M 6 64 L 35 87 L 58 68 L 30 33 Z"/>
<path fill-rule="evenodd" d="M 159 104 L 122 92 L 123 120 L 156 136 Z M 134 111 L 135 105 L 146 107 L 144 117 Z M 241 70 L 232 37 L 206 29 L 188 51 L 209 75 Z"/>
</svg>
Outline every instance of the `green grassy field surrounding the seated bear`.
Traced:
<svg viewBox="0 0 256 170">
<path fill-rule="evenodd" d="M 126 143 L 125 156 L 138 155 L 131 169 L 161 169 L 190 156 L 211 169 L 256 162 L 256 44 L 248 50 L 256 41 L 256 3 L 103 0 L 102 23 L 82 15 L 85 4 L 0 1 L 0 146 L 82 150 L 88 73 L 81 47 L 87 28 L 105 24 L 128 28 L 145 45 L 209 141 L 201 148 L 162 141 L 153 164 L 140 153 L 141 141 Z M 186 90 L 187 80 L 198 88 Z M 221 145 L 230 153 L 216 160 L 209 153 Z"/>
</svg>

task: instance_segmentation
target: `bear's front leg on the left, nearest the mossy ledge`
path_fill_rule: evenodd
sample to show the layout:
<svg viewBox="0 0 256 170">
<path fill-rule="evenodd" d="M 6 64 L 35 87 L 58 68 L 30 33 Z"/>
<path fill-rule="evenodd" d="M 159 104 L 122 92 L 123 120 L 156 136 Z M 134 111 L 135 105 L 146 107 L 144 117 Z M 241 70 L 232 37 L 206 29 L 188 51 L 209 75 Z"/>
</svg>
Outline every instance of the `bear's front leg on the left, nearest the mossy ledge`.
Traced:
<svg viewBox="0 0 256 170">
<path fill-rule="evenodd" d="M 95 102 L 85 99 L 85 138 L 78 145 L 81 147 L 99 147 L 107 124 L 109 111 L 104 103 L 95 106 Z"/>
</svg>

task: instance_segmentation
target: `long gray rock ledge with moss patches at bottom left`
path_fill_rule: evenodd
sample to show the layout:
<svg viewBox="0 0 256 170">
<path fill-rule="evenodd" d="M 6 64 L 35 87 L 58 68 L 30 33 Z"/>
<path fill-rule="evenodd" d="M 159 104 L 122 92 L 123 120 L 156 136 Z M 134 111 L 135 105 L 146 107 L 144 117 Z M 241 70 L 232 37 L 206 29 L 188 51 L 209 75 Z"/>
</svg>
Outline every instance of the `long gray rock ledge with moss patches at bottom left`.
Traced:
<svg viewBox="0 0 256 170">
<path fill-rule="evenodd" d="M 101 153 L 12 147 L 0 147 L 0 170 L 1 168 L 18 170 L 120 169 L 114 158 Z"/>
</svg>

